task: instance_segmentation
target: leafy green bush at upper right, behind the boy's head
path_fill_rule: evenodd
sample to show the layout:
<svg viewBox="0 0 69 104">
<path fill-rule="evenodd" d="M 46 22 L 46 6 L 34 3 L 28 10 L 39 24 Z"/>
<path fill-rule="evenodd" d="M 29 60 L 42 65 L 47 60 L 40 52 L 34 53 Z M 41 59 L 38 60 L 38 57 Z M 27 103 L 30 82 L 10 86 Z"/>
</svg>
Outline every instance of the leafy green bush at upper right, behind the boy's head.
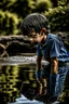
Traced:
<svg viewBox="0 0 69 104">
<path fill-rule="evenodd" d="M 69 5 L 50 9 L 44 15 L 50 21 L 51 31 L 69 31 Z"/>
</svg>

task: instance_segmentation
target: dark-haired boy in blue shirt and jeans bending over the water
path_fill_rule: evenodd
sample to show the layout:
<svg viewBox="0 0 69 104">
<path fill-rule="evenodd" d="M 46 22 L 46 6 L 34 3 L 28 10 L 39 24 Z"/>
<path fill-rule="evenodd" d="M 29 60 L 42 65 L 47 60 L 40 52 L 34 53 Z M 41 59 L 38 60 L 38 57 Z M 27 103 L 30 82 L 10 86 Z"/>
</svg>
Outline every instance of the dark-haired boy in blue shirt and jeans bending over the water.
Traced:
<svg viewBox="0 0 69 104">
<path fill-rule="evenodd" d="M 66 74 L 69 69 L 67 50 L 56 35 L 50 34 L 49 21 L 40 13 L 32 13 L 25 17 L 20 24 L 20 30 L 24 36 L 29 37 L 31 42 L 38 43 L 36 77 L 38 82 L 42 76 L 47 77 L 47 104 L 54 104 L 63 92 Z M 42 57 L 49 61 L 50 65 L 41 72 Z"/>
</svg>

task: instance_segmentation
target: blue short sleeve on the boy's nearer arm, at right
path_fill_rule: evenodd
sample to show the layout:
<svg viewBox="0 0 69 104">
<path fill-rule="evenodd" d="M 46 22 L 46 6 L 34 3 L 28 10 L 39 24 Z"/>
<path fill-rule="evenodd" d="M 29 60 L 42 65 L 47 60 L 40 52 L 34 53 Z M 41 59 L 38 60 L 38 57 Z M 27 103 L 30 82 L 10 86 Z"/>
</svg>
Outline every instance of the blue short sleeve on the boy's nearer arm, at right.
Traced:
<svg viewBox="0 0 69 104">
<path fill-rule="evenodd" d="M 50 51 L 50 57 L 58 57 L 59 56 L 59 43 L 56 40 L 52 41 L 52 47 Z"/>
</svg>

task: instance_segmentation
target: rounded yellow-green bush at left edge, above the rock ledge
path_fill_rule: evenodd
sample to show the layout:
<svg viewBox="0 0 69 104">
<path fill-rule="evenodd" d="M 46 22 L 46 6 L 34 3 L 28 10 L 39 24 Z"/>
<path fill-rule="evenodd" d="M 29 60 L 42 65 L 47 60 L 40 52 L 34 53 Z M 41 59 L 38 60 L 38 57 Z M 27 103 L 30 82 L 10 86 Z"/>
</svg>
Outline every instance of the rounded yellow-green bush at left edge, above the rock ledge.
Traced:
<svg viewBox="0 0 69 104">
<path fill-rule="evenodd" d="M 16 35 L 19 20 L 16 14 L 0 11 L 0 35 Z"/>
</svg>

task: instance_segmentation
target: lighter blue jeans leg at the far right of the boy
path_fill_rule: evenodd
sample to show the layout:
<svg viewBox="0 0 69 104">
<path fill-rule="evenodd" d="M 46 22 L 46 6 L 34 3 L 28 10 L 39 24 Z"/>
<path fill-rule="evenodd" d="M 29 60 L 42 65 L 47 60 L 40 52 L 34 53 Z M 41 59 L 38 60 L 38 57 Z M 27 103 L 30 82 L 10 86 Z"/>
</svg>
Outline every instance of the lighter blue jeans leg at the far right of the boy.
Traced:
<svg viewBox="0 0 69 104">
<path fill-rule="evenodd" d="M 59 96 L 61 94 L 68 70 L 69 70 L 69 66 L 59 67 L 54 95 Z"/>
</svg>

